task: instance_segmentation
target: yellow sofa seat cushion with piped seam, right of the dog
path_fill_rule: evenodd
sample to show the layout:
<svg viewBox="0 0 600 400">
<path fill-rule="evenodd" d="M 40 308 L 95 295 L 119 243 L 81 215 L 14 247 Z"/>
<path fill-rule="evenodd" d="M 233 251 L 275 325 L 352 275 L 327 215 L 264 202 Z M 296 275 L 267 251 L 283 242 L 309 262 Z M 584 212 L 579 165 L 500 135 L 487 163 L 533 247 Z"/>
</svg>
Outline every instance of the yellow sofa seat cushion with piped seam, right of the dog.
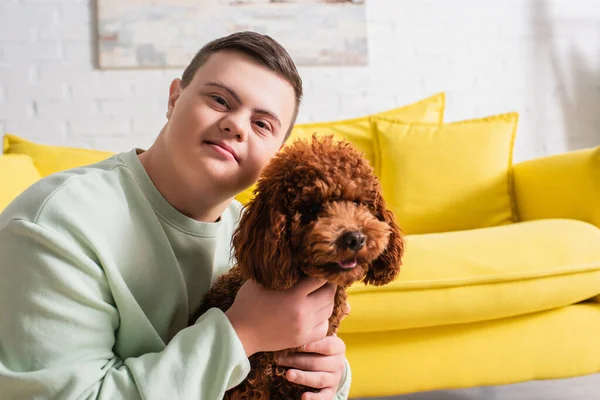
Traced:
<svg viewBox="0 0 600 400">
<path fill-rule="evenodd" d="M 493 320 L 563 307 L 600 294 L 600 229 L 548 219 L 408 235 L 398 279 L 348 289 L 341 332 Z"/>
</svg>

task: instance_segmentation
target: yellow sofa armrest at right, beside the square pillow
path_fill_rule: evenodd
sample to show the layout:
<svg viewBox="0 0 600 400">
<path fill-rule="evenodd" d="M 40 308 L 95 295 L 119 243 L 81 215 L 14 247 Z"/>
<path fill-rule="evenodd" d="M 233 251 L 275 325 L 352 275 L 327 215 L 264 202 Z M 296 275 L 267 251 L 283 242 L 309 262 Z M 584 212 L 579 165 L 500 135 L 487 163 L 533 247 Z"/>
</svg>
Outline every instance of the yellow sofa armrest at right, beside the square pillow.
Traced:
<svg viewBox="0 0 600 400">
<path fill-rule="evenodd" d="M 515 164 L 521 221 L 570 218 L 600 227 L 600 146 Z"/>
</svg>

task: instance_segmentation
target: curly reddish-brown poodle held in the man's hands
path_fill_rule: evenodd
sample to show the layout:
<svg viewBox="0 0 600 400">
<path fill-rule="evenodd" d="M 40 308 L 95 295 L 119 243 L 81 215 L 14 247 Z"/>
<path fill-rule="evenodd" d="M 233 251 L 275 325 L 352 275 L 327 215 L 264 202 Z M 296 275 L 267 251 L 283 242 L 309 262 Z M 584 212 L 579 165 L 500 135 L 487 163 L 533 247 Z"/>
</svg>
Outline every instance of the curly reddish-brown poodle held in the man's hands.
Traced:
<svg viewBox="0 0 600 400">
<path fill-rule="evenodd" d="M 396 278 L 404 250 L 401 231 L 371 166 L 349 143 L 313 136 L 284 147 L 265 167 L 254 193 L 233 237 L 237 265 L 213 285 L 190 323 L 212 307 L 226 311 L 246 279 L 286 290 L 310 275 L 338 285 L 332 335 L 346 313 L 348 286 L 385 285 Z M 277 354 L 252 355 L 249 375 L 225 399 L 289 400 L 316 391 L 289 382 Z"/>
</svg>

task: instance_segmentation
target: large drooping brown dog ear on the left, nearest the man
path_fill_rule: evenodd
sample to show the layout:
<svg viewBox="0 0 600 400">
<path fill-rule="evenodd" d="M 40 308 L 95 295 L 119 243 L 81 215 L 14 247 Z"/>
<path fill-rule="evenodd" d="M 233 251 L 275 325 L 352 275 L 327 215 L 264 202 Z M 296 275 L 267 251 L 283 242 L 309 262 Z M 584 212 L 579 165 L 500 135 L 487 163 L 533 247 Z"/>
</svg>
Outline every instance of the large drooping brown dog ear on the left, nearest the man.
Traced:
<svg viewBox="0 0 600 400">
<path fill-rule="evenodd" d="M 298 282 L 299 272 L 292 264 L 288 217 L 274 198 L 258 193 L 248 203 L 232 243 L 245 278 L 267 289 L 286 290 Z"/>
</svg>

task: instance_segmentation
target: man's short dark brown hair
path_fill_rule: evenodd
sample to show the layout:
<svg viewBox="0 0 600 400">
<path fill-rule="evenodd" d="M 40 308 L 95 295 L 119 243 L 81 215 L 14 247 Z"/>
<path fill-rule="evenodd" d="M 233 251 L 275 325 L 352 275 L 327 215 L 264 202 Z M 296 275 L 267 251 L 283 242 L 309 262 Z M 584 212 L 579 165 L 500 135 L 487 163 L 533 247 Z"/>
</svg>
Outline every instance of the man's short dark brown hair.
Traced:
<svg viewBox="0 0 600 400">
<path fill-rule="evenodd" d="M 215 39 L 204 45 L 194 56 L 190 64 L 183 71 L 181 85 L 185 88 L 190 84 L 198 68 L 210 57 L 222 50 L 239 51 L 250 56 L 260 64 L 283 76 L 294 88 L 296 104 L 290 129 L 285 134 L 284 143 L 292 132 L 292 127 L 298 117 L 300 102 L 302 101 L 302 79 L 296 70 L 296 65 L 288 52 L 273 38 L 251 31 L 236 32 L 231 35 Z"/>
</svg>

